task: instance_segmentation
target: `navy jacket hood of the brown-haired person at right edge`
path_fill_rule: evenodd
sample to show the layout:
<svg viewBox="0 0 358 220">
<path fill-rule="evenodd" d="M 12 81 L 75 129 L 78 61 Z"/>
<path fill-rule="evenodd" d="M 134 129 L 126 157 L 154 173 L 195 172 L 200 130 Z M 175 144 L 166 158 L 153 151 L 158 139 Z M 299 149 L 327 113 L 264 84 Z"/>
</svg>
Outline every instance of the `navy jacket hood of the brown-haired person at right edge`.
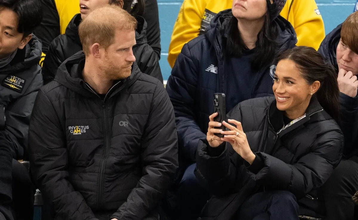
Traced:
<svg viewBox="0 0 358 220">
<path fill-rule="evenodd" d="M 342 29 L 342 24 L 338 25 L 333 31 L 331 31 L 322 41 L 321 46 L 318 49 L 318 52 L 330 62 L 333 67 L 338 71 L 336 51 L 337 46 L 340 40 L 340 30 Z"/>
</svg>

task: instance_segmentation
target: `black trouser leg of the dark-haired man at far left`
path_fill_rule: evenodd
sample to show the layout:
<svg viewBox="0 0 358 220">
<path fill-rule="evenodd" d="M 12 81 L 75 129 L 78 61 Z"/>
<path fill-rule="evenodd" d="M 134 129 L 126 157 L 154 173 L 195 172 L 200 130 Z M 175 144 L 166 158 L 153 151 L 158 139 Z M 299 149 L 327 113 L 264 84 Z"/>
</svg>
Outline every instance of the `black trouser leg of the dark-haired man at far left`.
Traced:
<svg viewBox="0 0 358 220">
<path fill-rule="evenodd" d="M 25 166 L 13 159 L 13 210 L 15 220 L 32 220 L 35 188 Z"/>
</svg>

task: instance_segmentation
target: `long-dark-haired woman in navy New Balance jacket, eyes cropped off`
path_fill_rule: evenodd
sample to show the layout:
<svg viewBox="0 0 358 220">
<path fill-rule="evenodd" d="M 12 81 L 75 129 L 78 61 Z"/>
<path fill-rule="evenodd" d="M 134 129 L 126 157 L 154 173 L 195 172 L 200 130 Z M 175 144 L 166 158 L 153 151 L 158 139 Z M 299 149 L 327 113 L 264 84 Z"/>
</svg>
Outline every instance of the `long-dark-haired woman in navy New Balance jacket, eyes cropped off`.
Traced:
<svg viewBox="0 0 358 220">
<path fill-rule="evenodd" d="M 185 44 L 166 85 L 178 128 L 180 168 L 163 205 L 174 219 L 197 219 L 210 198 L 194 176 L 199 139 L 205 139 L 213 95 L 226 94 L 226 110 L 272 94 L 275 55 L 295 46 L 291 24 L 278 17 L 284 0 L 233 3 L 207 32 Z M 227 113 L 227 112 L 226 112 Z"/>
</svg>

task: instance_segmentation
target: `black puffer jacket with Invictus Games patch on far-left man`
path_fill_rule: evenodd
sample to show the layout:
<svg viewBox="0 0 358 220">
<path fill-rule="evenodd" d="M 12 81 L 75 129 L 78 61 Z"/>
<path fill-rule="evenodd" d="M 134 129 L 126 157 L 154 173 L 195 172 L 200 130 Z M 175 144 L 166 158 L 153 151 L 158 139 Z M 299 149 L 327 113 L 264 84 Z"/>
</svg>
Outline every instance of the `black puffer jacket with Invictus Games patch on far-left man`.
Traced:
<svg viewBox="0 0 358 220">
<path fill-rule="evenodd" d="M 38 65 L 41 46 L 33 36 L 8 65 L 0 68 L 0 131 L 10 144 L 14 159 L 23 159 L 31 111 L 43 83 Z"/>
</svg>

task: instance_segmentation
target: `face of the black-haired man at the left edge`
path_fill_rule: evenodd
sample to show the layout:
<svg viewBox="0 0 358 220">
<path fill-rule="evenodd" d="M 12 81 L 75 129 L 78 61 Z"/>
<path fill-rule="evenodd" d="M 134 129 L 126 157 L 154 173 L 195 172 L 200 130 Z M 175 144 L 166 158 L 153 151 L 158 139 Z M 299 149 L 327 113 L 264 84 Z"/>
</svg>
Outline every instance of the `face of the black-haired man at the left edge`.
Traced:
<svg viewBox="0 0 358 220">
<path fill-rule="evenodd" d="M 10 9 L 0 7 L 0 59 L 9 56 L 16 48 L 23 49 L 32 35 L 18 32 L 18 15 Z"/>
</svg>

